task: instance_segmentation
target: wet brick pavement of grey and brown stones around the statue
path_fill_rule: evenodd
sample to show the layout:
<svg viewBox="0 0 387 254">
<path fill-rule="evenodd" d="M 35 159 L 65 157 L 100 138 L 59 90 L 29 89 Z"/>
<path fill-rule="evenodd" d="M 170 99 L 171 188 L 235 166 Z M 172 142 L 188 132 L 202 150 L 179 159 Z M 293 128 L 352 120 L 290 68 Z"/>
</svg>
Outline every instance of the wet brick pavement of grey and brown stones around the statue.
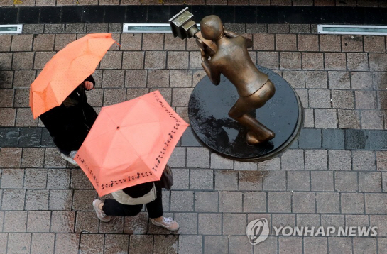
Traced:
<svg viewBox="0 0 387 254">
<path fill-rule="evenodd" d="M 0 35 L 0 253 L 386 253 L 386 37 L 227 26 L 247 33 L 256 63 L 295 88 L 304 128 L 283 155 L 258 163 L 222 158 L 188 129 L 170 158 L 175 185 L 163 193 L 177 233 L 148 223 L 146 212 L 99 222 L 96 192 L 33 120 L 28 87 L 54 50 L 111 32 L 121 48 L 112 46 L 94 74 L 92 106 L 159 89 L 188 121 L 190 93 L 205 75 L 195 41 L 121 34 L 119 24 L 31 24 L 23 35 Z M 271 236 L 253 246 L 245 228 L 260 218 Z M 378 226 L 378 236 L 276 237 L 274 226 Z"/>
</svg>

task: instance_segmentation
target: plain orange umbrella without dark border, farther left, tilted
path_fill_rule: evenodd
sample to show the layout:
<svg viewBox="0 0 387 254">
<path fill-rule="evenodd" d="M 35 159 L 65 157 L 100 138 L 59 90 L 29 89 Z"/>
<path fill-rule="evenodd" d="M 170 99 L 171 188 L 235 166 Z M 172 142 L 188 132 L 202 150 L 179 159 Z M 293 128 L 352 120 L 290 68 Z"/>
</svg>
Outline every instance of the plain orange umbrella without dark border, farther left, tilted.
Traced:
<svg viewBox="0 0 387 254">
<path fill-rule="evenodd" d="M 56 53 L 31 84 L 30 107 L 33 118 L 60 106 L 95 71 L 114 42 L 111 33 L 92 33 Z"/>
</svg>

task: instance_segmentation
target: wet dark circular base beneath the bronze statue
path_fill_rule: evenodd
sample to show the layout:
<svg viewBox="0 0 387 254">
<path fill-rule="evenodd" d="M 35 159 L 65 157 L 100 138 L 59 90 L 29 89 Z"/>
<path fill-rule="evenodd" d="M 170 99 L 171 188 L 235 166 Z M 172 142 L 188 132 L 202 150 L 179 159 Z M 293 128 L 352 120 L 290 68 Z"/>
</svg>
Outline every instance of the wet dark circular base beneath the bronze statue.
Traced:
<svg viewBox="0 0 387 254">
<path fill-rule="evenodd" d="M 276 72 L 257 66 L 268 74 L 276 87 L 276 94 L 260 109 L 251 112 L 276 137 L 259 145 L 246 143 L 247 129 L 228 115 L 239 98 L 236 88 L 223 75 L 215 86 L 206 76 L 193 90 L 188 116 L 197 137 L 215 152 L 233 159 L 267 160 L 287 148 L 300 133 L 303 109 L 293 88 Z"/>
</svg>

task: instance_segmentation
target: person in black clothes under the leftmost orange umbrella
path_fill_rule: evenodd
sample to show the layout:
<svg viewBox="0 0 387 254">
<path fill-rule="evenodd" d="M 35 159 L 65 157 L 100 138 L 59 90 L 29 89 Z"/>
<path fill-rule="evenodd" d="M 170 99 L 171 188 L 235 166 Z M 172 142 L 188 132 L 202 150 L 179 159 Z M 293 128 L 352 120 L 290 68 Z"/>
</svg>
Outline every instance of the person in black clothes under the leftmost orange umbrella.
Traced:
<svg viewBox="0 0 387 254">
<path fill-rule="evenodd" d="M 98 114 L 87 103 L 86 92 L 94 89 L 92 75 L 87 77 L 60 106 L 40 115 L 62 158 L 77 166 L 74 156 L 82 145 Z"/>
</svg>

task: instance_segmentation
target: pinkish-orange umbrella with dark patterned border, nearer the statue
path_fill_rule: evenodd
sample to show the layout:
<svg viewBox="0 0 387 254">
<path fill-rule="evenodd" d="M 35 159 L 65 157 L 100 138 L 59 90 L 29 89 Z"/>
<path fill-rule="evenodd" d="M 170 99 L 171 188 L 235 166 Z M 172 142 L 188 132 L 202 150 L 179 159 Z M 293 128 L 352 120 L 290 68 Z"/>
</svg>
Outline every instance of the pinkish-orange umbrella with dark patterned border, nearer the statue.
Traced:
<svg viewBox="0 0 387 254">
<path fill-rule="evenodd" d="M 104 106 L 75 161 L 99 196 L 158 181 L 187 126 L 158 91 Z"/>
</svg>

